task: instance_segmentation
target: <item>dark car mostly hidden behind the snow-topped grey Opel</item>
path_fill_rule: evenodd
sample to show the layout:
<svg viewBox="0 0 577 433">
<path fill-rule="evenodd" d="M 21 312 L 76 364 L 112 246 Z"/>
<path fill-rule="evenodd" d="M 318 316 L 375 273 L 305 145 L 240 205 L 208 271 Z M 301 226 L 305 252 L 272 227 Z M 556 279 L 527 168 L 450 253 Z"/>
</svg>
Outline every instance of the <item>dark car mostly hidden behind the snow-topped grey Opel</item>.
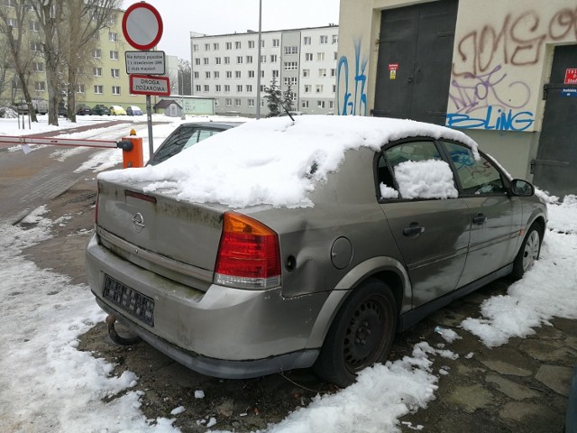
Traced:
<svg viewBox="0 0 577 433">
<path fill-rule="evenodd" d="M 234 128 L 242 122 L 191 122 L 179 124 L 179 127 L 170 134 L 154 152 L 147 165 L 156 165 L 168 160 L 184 149 L 205 140 L 227 129 Z"/>
</svg>

